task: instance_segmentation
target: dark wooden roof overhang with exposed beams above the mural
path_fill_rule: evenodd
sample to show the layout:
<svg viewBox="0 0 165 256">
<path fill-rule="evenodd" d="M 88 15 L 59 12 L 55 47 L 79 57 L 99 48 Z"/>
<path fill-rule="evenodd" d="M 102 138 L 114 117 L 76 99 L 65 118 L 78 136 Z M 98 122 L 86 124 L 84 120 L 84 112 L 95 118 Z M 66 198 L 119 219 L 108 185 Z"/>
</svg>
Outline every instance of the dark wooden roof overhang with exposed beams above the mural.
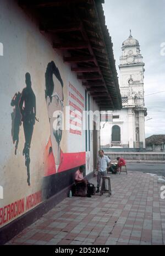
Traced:
<svg viewBox="0 0 165 256">
<path fill-rule="evenodd" d="M 36 15 L 42 34 L 94 98 L 100 110 L 120 110 L 122 99 L 113 44 L 103 14 L 103 0 L 20 0 L 25 12 Z"/>
</svg>

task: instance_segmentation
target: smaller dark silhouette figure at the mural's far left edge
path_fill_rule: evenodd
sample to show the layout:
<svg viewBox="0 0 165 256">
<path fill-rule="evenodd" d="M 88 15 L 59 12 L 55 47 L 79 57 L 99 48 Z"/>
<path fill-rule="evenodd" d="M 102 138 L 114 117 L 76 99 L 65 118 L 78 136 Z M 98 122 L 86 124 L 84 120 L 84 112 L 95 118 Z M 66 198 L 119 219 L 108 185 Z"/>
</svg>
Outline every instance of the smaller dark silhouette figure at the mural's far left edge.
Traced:
<svg viewBox="0 0 165 256">
<path fill-rule="evenodd" d="M 21 97 L 20 92 L 16 92 L 11 101 L 11 106 L 14 107 L 12 116 L 12 138 L 13 144 L 15 143 L 15 155 L 17 155 L 18 143 L 19 143 L 19 127 L 21 126 L 21 113 L 19 109 L 19 100 Z"/>
</svg>

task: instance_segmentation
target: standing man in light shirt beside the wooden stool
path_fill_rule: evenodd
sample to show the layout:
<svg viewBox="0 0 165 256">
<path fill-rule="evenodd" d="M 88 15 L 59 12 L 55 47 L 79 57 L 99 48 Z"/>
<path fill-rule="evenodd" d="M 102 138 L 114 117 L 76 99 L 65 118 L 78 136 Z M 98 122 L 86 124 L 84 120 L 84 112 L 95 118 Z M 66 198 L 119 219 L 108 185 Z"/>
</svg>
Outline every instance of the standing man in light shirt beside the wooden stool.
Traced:
<svg viewBox="0 0 165 256">
<path fill-rule="evenodd" d="M 98 159 L 97 159 L 97 190 L 96 193 L 100 192 L 100 186 L 101 186 L 101 177 L 107 176 L 107 165 L 111 165 L 111 160 L 108 158 L 108 156 L 104 155 L 103 150 L 98 151 Z"/>
</svg>

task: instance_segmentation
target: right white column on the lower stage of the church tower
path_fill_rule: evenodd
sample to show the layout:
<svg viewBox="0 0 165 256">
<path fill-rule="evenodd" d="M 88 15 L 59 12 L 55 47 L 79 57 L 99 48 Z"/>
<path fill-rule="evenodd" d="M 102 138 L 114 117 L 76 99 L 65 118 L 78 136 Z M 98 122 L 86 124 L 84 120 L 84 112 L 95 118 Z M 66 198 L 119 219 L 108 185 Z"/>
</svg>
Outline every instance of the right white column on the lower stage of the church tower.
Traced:
<svg viewBox="0 0 165 256">
<path fill-rule="evenodd" d="M 144 111 L 139 111 L 139 141 L 140 148 L 145 148 L 145 116 Z"/>
</svg>

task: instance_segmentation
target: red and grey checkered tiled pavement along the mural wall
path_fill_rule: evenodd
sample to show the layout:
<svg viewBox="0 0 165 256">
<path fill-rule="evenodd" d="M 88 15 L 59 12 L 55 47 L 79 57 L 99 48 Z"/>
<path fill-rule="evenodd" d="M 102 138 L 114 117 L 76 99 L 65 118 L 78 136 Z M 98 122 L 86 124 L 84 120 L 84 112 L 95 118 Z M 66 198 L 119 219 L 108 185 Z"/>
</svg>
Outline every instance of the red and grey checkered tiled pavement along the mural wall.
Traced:
<svg viewBox="0 0 165 256">
<path fill-rule="evenodd" d="M 163 184 L 142 172 L 110 177 L 111 197 L 66 198 L 7 244 L 165 244 Z"/>
</svg>

